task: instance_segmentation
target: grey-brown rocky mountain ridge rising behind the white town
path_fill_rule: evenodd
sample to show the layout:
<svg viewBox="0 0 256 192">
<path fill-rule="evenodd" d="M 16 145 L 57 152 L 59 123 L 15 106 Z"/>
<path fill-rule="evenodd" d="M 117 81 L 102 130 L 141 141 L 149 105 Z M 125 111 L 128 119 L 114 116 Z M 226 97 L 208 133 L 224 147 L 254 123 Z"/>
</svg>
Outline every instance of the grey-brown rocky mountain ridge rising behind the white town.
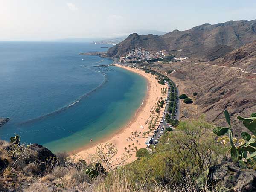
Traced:
<svg viewBox="0 0 256 192">
<path fill-rule="evenodd" d="M 108 56 L 120 57 L 135 47 L 168 50 L 177 56 L 214 60 L 244 44 L 256 40 L 256 20 L 203 24 L 186 31 L 174 30 L 165 35 L 131 34 L 108 50 Z"/>
</svg>

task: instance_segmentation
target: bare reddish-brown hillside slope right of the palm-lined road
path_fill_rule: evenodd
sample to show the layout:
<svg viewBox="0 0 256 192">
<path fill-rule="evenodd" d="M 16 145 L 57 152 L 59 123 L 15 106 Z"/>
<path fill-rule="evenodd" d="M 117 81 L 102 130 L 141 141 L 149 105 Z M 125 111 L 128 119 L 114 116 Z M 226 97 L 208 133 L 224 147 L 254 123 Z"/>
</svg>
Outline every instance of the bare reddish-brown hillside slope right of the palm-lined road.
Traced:
<svg viewBox="0 0 256 192">
<path fill-rule="evenodd" d="M 246 131 L 237 116 L 256 112 L 256 43 L 246 44 L 215 61 L 188 59 L 177 63 L 151 64 L 160 73 L 172 69 L 169 78 L 179 84 L 180 94 L 192 98 L 192 105 L 182 104 L 183 118 L 204 114 L 209 122 L 227 126 L 223 111 L 231 114 L 235 134 Z M 239 69 L 240 68 L 240 69 Z M 245 69 L 242 71 L 241 69 Z M 250 72 L 250 73 L 245 73 Z M 197 92 L 197 96 L 193 93 Z"/>
</svg>

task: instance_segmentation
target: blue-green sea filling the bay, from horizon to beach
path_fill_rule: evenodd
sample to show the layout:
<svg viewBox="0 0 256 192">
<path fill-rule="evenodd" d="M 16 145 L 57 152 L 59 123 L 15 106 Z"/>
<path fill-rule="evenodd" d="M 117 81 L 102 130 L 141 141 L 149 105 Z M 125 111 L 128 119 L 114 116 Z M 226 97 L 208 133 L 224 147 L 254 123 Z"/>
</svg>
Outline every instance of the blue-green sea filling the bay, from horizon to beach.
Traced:
<svg viewBox="0 0 256 192">
<path fill-rule="evenodd" d="M 54 152 L 113 134 L 141 105 L 146 80 L 119 67 L 94 67 L 102 51 L 81 43 L 0 42 L 0 138 L 20 134 Z M 100 64 L 111 64 L 105 59 Z"/>
</svg>

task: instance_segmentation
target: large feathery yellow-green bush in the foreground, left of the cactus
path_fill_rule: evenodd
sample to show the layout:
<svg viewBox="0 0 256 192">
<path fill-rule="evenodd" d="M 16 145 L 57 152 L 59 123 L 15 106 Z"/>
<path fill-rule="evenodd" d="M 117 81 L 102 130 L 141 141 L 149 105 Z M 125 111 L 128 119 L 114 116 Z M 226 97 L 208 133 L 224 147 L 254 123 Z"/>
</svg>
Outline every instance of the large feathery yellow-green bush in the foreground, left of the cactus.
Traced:
<svg viewBox="0 0 256 192">
<path fill-rule="evenodd" d="M 122 174 L 129 173 L 134 186 L 145 183 L 147 189 L 156 182 L 161 186 L 183 186 L 187 180 L 195 184 L 196 178 L 219 163 L 224 154 L 211 129 L 204 119 L 180 122 L 175 131 L 163 135 L 153 154 L 128 164 Z"/>
</svg>

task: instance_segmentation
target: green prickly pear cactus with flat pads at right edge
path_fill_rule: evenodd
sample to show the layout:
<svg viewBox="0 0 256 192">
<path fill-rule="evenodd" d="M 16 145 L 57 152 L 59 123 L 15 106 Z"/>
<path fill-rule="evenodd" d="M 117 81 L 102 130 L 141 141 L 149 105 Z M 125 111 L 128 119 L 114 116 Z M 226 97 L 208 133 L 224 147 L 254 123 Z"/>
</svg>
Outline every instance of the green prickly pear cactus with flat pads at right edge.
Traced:
<svg viewBox="0 0 256 192">
<path fill-rule="evenodd" d="M 229 127 L 216 127 L 213 129 L 213 133 L 218 136 L 228 134 L 230 140 L 230 154 L 234 162 L 239 161 L 241 167 L 246 167 L 244 161 L 250 159 L 256 160 L 256 113 L 253 113 L 249 118 L 244 118 L 238 116 L 237 119 L 243 122 L 244 126 L 252 132 L 252 136 L 247 132 L 241 133 L 241 138 L 243 138 L 246 143 L 236 146 L 233 141 L 233 130 L 230 123 L 230 115 L 227 110 L 224 111 L 224 116 Z"/>
</svg>

